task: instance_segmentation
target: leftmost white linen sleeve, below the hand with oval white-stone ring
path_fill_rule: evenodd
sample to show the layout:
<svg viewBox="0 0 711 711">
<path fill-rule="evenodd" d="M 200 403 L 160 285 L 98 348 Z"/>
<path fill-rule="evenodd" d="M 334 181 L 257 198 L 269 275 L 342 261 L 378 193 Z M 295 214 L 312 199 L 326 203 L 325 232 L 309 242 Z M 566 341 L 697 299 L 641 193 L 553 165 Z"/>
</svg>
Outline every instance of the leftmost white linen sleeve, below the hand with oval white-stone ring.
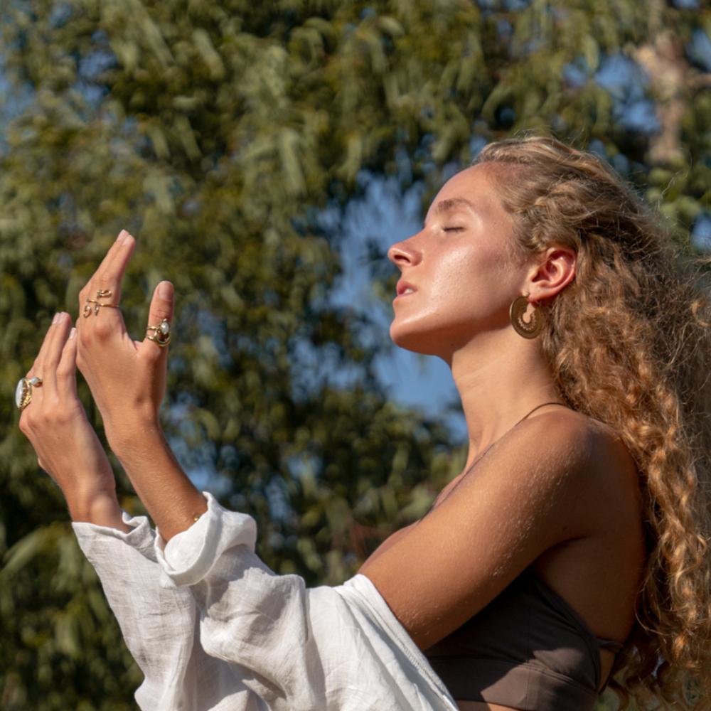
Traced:
<svg viewBox="0 0 711 711">
<path fill-rule="evenodd" d="M 267 705 L 242 682 L 249 670 L 205 653 L 191 590 L 161 585 L 156 533 L 145 516 L 123 513 L 132 530 L 75 522 L 79 545 L 95 568 L 124 641 L 145 678 L 144 711 L 257 711 Z M 199 523 L 199 522 L 198 522 Z M 196 524 L 197 526 L 198 524 Z"/>
</svg>

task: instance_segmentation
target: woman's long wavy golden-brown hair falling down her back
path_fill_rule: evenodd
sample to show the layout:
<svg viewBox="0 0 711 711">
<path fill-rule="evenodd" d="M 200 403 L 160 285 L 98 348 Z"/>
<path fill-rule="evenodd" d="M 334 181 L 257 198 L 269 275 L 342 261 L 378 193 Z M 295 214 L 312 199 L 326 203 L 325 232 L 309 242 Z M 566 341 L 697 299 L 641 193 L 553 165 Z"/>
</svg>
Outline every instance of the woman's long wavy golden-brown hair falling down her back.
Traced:
<svg viewBox="0 0 711 711">
<path fill-rule="evenodd" d="M 711 308 L 707 264 L 594 156 L 555 139 L 489 144 L 513 256 L 577 252 L 542 348 L 562 397 L 619 433 L 640 473 L 648 557 L 610 687 L 711 709 Z"/>
</svg>

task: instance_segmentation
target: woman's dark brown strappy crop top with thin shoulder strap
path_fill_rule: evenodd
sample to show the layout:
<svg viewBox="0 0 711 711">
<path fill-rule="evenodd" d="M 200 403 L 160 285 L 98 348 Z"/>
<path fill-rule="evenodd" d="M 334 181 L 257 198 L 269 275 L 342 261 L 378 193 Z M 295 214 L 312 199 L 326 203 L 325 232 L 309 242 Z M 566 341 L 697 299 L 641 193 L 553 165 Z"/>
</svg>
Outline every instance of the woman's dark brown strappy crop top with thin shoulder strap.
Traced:
<svg viewBox="0 0 711 711">
<path fill-rule="evenodd" d="M 618 653 L 623 646 L 597 638 L 529 567 L 478 614 L 424 650 L 424 656 L 460 701 L 521 711 L 590 711 L 607 683 L 600 678 L 600 649 Z"/>
</svg>

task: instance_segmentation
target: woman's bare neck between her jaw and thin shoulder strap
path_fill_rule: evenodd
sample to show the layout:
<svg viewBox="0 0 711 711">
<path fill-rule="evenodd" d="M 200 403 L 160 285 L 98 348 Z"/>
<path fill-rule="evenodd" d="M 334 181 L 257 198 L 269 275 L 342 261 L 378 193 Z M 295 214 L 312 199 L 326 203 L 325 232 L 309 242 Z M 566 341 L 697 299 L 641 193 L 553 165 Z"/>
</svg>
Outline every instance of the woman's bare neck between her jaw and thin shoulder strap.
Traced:
<svg viewBox="0 0 711 711">
<path fill-rule="evenodd" d="M 469 434 L 465 470 L 536 405 L 562 402 L 540 342 L 513 328 L 479 334 L 452 354 L 449 365 Z"/>
</svg>

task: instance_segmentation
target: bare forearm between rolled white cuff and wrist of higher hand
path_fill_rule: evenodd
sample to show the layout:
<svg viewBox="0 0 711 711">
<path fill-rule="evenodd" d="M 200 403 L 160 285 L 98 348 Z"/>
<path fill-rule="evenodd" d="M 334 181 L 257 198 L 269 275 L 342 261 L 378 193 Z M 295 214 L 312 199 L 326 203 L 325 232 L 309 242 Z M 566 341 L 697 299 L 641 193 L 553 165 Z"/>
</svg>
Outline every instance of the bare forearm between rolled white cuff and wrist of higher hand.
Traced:
<svg viewBox="0 0 711 711">
<path fill-rule="evenodd" d="M 107 438 L 164 540 L 190 528 L 207 510 L 205 498 L 178 464 L 157 419 L 109 424 Z"/>
</svg>

